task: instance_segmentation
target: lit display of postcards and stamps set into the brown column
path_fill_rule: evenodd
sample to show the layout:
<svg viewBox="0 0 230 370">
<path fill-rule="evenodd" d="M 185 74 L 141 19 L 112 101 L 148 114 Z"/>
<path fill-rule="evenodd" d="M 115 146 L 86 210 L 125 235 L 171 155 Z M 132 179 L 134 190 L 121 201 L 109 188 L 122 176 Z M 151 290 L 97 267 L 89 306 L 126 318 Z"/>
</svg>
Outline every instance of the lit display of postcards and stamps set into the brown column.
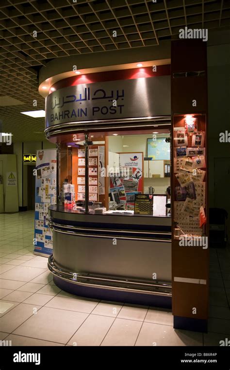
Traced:
<svg viewBox="0 0 230 370">
<path fill-rule="evenodd" d="M 202 236 L 206 221 L 205 115 L 174 116 L 174 236 Z"/>
</svg>

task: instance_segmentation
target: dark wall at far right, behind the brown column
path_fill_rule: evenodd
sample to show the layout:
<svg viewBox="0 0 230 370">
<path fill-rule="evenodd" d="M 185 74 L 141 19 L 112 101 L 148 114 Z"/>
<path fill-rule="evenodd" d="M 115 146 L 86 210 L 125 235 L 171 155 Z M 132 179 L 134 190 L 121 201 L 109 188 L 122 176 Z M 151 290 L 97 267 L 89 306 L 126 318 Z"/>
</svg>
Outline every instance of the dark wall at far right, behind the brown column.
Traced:
<svg viewBox="0 0 230 370">
<path fill-rule="evenodd" d="M 220 143 L 219 134 L 226 130 L 230 132 L 230 31 L 216 33 L 207 47 L 208 63 L 208 143 L 209 143 L 209 202 L 210 207 L 222 207 L 229 212 L 230 230 L 230 197 L 229 181 L 222 184 L 222 189 L 215 186 L 218 168 L 215 160 L 222 158 L 228 166 L 230 158 L 230 143 Z M 221 169 L 220 169 L 221 170 Z M 230 176 L 230 168 L 227 170 Z M 229 235 L 230 238 L 230 235 Z"/>
</svg>

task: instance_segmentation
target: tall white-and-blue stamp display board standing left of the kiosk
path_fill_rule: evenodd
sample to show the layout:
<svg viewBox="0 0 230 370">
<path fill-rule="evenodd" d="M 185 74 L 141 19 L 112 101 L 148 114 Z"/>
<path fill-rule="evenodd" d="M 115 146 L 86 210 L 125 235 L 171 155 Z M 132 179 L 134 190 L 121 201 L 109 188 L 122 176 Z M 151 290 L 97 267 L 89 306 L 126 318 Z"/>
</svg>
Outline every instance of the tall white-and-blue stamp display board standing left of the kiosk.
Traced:
<svg viewBox="0 0 230 370">
<path fill-rule="evenodd" d="M 52 230 L 48 226 L 48 207 L 56 203 L 56 149 L 37 150 L 35 180 L 34 254 L 52 254 Z"/>
</svg>

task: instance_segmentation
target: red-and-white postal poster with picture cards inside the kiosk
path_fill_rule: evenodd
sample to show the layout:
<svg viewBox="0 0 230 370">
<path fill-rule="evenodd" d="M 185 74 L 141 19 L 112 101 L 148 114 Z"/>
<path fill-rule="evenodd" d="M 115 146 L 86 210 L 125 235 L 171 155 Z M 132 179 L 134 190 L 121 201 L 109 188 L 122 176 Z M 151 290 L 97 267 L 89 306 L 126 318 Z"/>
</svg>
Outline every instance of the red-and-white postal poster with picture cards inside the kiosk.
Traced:
<svg viewBox="0 0 230 370">
<path fill-rule="evenodd" d="M 110 177 L 109 193 L 118 193 L 117 210 L 134 211 L 135 195 L 143 193 L 143 153 L 119 153 L 119 169 L 118 177 Z"/>
</svg>

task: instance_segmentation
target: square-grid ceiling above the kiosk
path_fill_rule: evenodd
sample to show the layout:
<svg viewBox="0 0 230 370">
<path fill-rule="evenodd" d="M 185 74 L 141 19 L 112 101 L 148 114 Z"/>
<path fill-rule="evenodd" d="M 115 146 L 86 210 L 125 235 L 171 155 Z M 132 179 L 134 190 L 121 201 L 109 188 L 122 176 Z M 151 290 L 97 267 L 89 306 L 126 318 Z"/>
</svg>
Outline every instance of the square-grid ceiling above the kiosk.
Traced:
<svg viewBox="0 0 230 370">
<path fill-rule="evenodd" d="M 37 73 L 50 59 L 156 46 L 185 26 L 230 26 L 230 0 L 1 0 L 0 96 L 24 103 L 0 106 L 3 129 L 39 140 L 44 119 L 20 111 L 44 109 Z"/>
</svg>

